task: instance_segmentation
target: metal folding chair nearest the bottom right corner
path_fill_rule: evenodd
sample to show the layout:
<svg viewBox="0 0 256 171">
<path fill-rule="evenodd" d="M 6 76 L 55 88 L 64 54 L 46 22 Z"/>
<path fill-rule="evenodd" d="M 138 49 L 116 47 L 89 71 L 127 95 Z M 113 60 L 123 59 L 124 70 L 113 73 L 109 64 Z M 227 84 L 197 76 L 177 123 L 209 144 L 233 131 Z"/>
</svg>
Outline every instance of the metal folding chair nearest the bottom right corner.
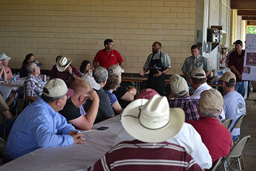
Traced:
<svg viewBox="0 0 256 171">
<path fill-rule="evenodd" d="M 234 163 L 236 163 L 236 167 L 239 170 L 242 170 L 241 168 L 241 157 L 243 158 L 242 152 L 244 150 L 244 147 L 246 147 L 246 145 L 248 144 L 248 142 L 250 141 L 251 136 L 248 135 L 244 138 L 242 138 L 241 140 L 239 140 L 230 150 L 228 156 L 226 156 L 225 158 L 223 158 L 223 160 L 221 161 L 221 164 L 218 165 L 218 167 L 216 168 L 216 170 L 218 170 L 218 168 L 220 168 L 221 165 L 223 165 L 224 170 L 227 171 L 227 168 L 230 168 L 232 170 L 232 165 L 234 165 Z M 229 160 L 229 158 L 234 158 L 232 160 L 231 163 L 229 163 L 227 160 Z M 229 170 L 230 170 L 229 169 Z"/>
</svg>

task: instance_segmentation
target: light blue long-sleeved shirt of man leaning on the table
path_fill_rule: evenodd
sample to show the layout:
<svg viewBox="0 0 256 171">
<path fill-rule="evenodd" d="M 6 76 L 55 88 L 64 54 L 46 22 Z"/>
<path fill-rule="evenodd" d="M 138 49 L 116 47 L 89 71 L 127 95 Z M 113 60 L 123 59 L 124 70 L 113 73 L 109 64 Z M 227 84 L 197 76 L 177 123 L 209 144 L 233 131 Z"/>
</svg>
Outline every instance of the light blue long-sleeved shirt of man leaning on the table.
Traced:
<svg viewBox="0 0 256 171">
<path fill-rule="evenodd" d="M 42 98 L 26 107 L 12 126 L 4 155 L 8 160 L 19 158 L 41 147 L 74 144 L 68 135 L 76 129 L 65 117 L 55 112 Z"/>
</svg>

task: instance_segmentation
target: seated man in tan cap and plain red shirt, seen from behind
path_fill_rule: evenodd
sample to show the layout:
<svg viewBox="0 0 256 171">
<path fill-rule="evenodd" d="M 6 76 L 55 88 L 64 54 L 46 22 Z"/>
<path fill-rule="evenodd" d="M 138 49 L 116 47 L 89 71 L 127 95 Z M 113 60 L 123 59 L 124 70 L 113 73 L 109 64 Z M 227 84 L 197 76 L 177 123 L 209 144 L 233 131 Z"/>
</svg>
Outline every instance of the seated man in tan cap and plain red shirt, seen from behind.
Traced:
<svg viewBox="0 0 256 171">
<path fill-rule="evenodd" d="M 231 134 L 218 117 L 223 107 L 223 97 L 216 89 L 209 89 L 200 94 L 198 121 L 186 121 L 194 126 L 201 135 L 212 157 L 212 165 L 221 157 L 227 156 L 232 146 Z"/>
</svg>

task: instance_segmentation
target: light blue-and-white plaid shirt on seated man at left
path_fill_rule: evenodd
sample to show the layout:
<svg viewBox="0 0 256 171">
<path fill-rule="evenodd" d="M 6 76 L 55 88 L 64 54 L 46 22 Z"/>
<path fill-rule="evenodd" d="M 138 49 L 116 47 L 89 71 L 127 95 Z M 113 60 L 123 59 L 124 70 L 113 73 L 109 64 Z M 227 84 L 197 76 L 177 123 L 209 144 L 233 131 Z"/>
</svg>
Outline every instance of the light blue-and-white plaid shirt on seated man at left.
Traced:
<svg viewBox="0 0 256 171">
<path fill-rule="evenodd" d="M 24 82 L 25 96 L 39 98 L 43 93 L 45 83 L 46 82 L 43 82 L 42 78 L 35 77 L 29 73 L 28 78 L 26 78 Z"/>
</svg>

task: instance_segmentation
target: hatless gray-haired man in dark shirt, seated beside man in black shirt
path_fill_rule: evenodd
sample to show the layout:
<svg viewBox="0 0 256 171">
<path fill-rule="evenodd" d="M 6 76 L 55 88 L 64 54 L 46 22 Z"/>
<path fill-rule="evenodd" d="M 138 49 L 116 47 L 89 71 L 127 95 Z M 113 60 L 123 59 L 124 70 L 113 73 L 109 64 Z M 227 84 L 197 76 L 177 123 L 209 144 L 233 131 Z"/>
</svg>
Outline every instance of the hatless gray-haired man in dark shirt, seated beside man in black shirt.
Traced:
<svg viewBox="0 0 256 171">
<path fill-rule="evenodd" d="M 102 89 L 104 85 L 106 85 L 108 80 L 108 71 L 106 68 L 99 66 L 98 68 L 95 68 L 93 70 L 93 78 L 95 81 L 100 84 L 100 89 L 95 89 L 96 93 L 99 96 L 100 102 L 99 102 L 99 110 L 97 113 L 97 117 L 95 119 L 94 124 L 99 123 L 101 121 L 104 121 L 105 119 L 108 119 L 109 117 L 115 116 L 115 113 L 113 111 L 113 108 L 111 107 L 110 100 L 108 98 L 108 95 L 104 92 Z M 85 112 L 88 112 L 92 105 L 92 100 L 88 100 L 86 104 L 84 105 Z"/>
</svg>

